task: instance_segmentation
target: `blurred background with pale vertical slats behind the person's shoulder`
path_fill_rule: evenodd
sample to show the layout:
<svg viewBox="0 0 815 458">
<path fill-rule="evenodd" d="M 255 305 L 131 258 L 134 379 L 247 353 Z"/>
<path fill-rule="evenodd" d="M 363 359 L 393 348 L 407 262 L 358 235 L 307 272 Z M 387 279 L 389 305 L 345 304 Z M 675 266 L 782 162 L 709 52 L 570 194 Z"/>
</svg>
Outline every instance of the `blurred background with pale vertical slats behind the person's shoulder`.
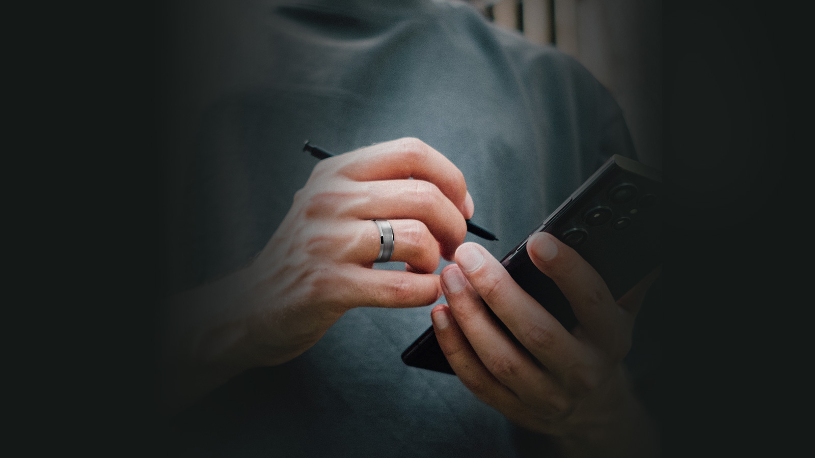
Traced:
<svg viewBox="0 0 815 458">
<path fill-rule="evenodd" d="M 641 161 L 662 169 L 662 0 L 469 0 L 487 19 L 574 56 L 623 108 Z"/>
</svg>

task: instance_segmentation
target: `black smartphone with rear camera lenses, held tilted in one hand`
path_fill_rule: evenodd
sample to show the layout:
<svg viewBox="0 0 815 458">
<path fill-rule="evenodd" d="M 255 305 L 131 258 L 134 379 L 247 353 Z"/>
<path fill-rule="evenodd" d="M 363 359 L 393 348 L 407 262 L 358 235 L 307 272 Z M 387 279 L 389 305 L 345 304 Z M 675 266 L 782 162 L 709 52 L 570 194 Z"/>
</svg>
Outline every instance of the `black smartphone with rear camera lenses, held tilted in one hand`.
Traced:
<svg viewBox="0 0 815 458">
<path fill-rule="evenodd" d="M 570 245 L 619 299 L 661 262 L 661 200 L 659 170 L 628 157 L 611 156 L 530 236 L 544 231 Z M 526 253 L 528 239 L 507 253 L 501 264 L 526 293 L 571 330 L 577 324 L 575 314 L 557 284 L 532 263 Z M 453 373 L 433 326 L 403 351 L 402 360 L 416 368 Z"/>
</svg>

